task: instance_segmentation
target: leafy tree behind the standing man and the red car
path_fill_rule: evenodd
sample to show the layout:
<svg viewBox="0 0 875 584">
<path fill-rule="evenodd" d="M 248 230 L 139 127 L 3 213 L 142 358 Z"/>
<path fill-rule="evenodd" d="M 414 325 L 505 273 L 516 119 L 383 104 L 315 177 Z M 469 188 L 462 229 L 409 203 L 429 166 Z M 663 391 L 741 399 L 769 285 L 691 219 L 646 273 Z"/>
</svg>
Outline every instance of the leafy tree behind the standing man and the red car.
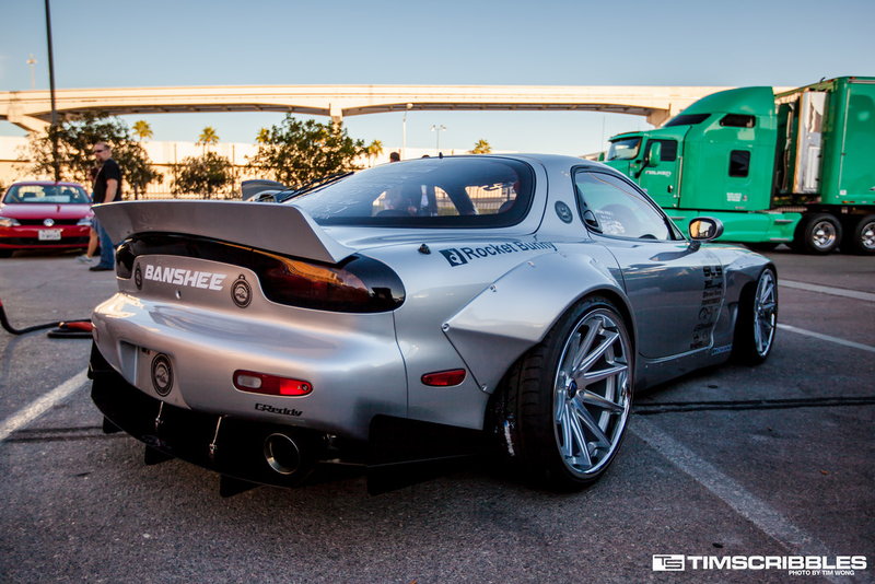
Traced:
<svg viewBox="0 0 875 584">
<path fill-rule="evenodd" d="M 86 114 L 79 119 L 66 119 L 44 132 L 32 132 L 28 141 L 31 171 L 52 174 L 51 139 L 58 138 L 60 173 L 62 180 L 73 180 L 91 186 L 91 170 L 96 165 L 91 150 L 95 142 L 106 142 L 113 148 L 113 159 L 121 167 L 121 177 L 128 190 L 139 197 L 145 187 L 162 178 L 152 170 L 143 147 L 131 138 L 130 128 L 119 118 Z"/>
</svg>

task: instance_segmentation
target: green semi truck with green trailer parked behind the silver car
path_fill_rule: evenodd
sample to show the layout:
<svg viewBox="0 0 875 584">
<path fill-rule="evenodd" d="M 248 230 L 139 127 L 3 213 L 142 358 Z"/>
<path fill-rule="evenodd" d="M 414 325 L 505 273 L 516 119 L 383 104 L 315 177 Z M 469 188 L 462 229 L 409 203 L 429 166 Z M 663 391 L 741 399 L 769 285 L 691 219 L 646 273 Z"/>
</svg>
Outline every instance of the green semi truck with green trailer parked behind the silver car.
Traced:
<svg viewBox="0 0 875 584">
<path fill-rule="evenodd" d="M 758 249 L 875 254 L 875 78 L 714 93 L 612 137 L 605 162 L 684 230 L 710 215 Z"/>
</svg>

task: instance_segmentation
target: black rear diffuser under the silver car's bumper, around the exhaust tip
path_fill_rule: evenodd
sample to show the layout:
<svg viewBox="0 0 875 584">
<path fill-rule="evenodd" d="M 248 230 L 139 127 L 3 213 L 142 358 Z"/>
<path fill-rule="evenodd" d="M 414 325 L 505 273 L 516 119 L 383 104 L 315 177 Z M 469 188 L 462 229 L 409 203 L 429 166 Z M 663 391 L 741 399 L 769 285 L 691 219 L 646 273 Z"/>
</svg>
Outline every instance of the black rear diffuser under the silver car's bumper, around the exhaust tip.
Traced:
<svg viewBox="0 0 875 584">
<path fill-rule="evenodd" d="M 377 494 L 452 470 L 482 451 L 479 431 L 385 416 L 372 420 L 365 442 L 178 408 L 128 384 L 96 346 L 89 376 L 97 409 L 112 425 L 144 443 L 148 452 L 245 482 L 296 487 L 308 478 L 330 480 L 366 470 L 369 491 Z M 277 434 L 300 447 L 301 466 L 294 472 L 278 472 L 267 459 L 266 442 Z"/>
</svg>

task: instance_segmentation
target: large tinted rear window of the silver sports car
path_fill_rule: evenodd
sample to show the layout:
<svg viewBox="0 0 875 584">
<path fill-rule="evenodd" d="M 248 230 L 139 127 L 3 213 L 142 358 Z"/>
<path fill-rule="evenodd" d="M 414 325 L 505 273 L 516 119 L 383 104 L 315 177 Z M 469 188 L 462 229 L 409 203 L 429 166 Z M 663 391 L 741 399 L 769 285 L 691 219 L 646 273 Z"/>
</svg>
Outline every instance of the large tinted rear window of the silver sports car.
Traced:
<svg viewBox="0 0 875 584">
<path fill-rule="evenodd" d="M 525 217 L 534 183 L 520 161 L 419 159 L 362 171 L 289 202 L 320 225 L 506 226 Z"/>
</svg>

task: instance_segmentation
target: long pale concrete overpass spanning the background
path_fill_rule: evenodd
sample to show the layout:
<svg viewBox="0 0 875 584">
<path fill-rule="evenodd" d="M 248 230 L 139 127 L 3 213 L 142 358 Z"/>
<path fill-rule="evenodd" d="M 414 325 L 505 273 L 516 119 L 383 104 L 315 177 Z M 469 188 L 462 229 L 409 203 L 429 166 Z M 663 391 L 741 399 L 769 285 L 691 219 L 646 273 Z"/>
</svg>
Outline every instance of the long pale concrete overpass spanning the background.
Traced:
<svg viewBox="0 0 875 584">
<path fill-rule="evenodd" d="M 654 126 L 720 86 L 578 85 L 217 85 L 56 91 L 61 116 L 290 112 L 346 116 L 404 110 L 580 110 L 645 116 Z M 0 92 L 0 120 L 28 131 L 51 119 L 48 91 Z"/>
</svg>

